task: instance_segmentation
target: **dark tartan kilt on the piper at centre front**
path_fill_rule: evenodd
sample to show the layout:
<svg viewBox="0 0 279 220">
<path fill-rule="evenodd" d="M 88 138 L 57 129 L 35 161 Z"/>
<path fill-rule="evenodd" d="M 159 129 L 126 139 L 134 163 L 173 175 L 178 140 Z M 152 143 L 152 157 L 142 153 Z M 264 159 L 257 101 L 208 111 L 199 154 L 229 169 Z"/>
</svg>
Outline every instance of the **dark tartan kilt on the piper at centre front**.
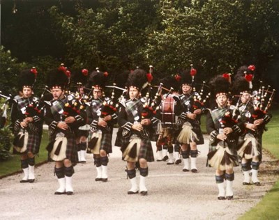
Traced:
<svg viewBox="0 0 279 220">
<path fill-rule="evenodd" d="M 130 136 L 128 138 L 123 138 L 122 146 L 127 147 L 130 143 Z M 138 155 L 138 158 L 144 158 L 147 162 L 154 162 L 154 155 L 153 155 L 153 149 L 151 145 L 151 141 L 149 139 L 142 139 L 142 143 L 140 145 L 140 154 Z M 123 157 L 122 157 L 123 159 Z"/>
</svg>

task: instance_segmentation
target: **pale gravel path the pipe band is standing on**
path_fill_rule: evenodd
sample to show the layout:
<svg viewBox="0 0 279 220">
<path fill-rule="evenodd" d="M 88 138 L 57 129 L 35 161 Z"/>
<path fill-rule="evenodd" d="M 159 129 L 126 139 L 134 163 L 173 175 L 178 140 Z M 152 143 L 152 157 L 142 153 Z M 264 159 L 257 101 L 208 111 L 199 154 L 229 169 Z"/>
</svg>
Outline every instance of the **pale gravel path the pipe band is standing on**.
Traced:
<svg viewBox="0 0 279 220">
<path fill-rule="evenodd" d="M 119 148 L 110 155 L 108 182 L 95 181 L 91 155 L 86 164 L 75 166 L 73 196 L 54 195 L 58 188 L 54 163 L 37 167 L 34 183 L 20 183 L 22 174 L 8 176 L 0 180 L 0 219 L 237 219 L 278 180 L 278 160 L 264 153 L 259 171 L 262 185 L 243 186 L 237 167 L 234 200 L 218 201 L 214 169 L 205 166 L 207 145 L 198 149 L 198 173 L 182 172 L 182 164 L 149 163 L 148 196 L 127 194 L 130 181 Z M 153 151 L 156 155 L 155 146 Z"/>
</svg>

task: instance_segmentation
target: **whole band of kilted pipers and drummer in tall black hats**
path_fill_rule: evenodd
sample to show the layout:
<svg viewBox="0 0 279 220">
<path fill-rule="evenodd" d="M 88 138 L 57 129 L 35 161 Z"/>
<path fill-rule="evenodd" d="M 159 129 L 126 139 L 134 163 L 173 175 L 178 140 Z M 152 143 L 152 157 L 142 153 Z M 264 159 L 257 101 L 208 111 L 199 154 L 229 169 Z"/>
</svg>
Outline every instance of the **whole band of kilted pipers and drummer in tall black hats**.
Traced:
<svg viewBox="0 0 279 220">
<path fill-rule="evenodd" d="M 232 199 L 233 167 L 239 165 L 237 150 L 242 158 L 243 184 L 250 184 L 251 169 L 252 183 L 259 184 L 257 171 L 261 162 L 262 132 L 271 118 L 266 111 L 272 102 L 273 91 L 260 87 L 257 93 L 251 94 L 254 71 L 254 66 L 240 68 L 233 84 L 229 74 L 214 77 L 208 83 L 210 93 L 205 95 L 204 84 L 199 92 L 195 91 L 197 70 L 191 67 L 189 71 L 162 79 L 155 97 L 151 98 L 152 68 L 148 73 L 137 69 L 119 75 L 118 79 L 122 83 L 126 81 L 128 89 L 122 89 L 126 95 L 121 95 L 116 104 L 114 92 L 112 97 L 103 97 L 106 72 L 96 70 L 86 82 L 78 80 L 91 88 L 92 98 L 89 100 L 87 95 L 66 92 L 70 74 L 61 65 L 47 77 L 52 96 L 45 98 L 45 95 L 38 100 L 32 96 L 36 68 L 26 70 L 20 77 L 22 95 L 15 97 L 11 113 L 15 151 L 20 153 L 24 171 L 21 182 L 35 180 L 34 156 L 40 147 L 43 120 L 49 126 L 47 150 L 55 162 L 54 172 L 59 181 L 55 194 L 73 194 L 73 167 L 78 158 L 85 161 L 86 149 L 93 153 L 98 174 L 96 181 L 106 182 L 107 155 L 112 152 L 112 128 L 118 122 L 115 145 L 121 147 L 123 159 L 127 162 L 126 171 L 131 183 L 128 194 L 140 192 L 146 195 L 147 162 L 154 161 L 151 140 L 156 141 L 158 152 L 162 146 L 167 146 L 169 155 L 172 146 L 176 146 L 175 151 L 182 155 L 183 171 L 197 173 L 197 145 L 204 143 L 200 116 L 206 113 L 206 130 L 210 137 L 208 164 L 216 168 L 218 199 Z M 85 79 L 88 72 L 82 70 L 81 73 Z M 111 87 L 113 90 L 121 88 Z M 234 106 L 231 104 L 231 88 L 234 98 L 237 97 Z M 267 103 L 266 97 L 269 97 Z M 209 99 L 211 102 L 205 104 Z M 91 135 L 86 144 L 88 133 Z M 136 163 L 140 184 L 136 178 Z M 170 160 L 169 164 L 172 163 Z"/>
</svg>

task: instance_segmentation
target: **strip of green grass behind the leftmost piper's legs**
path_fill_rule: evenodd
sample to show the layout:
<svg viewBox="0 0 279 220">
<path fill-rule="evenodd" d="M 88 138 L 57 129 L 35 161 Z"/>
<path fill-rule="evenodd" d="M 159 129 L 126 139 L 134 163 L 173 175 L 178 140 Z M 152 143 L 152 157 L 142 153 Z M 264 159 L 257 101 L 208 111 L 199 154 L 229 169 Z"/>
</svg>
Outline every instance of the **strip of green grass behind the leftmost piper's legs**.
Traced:
<svg viewBox="0 0 279 220">
<path fill-rule="evenodd" d="M 39 156 L 36 156 L 35 162 L 36 164 L 40 164 L 42 162 L 47 161 L 47 150 L 45 147 L 48 143 L 48 134 L 47 131 L 43 131 L 42 143 L 40 144 L 40 152 Z M 10 149 L 10 152 L 13 152 L 13 149 Z M 17 173 L 18 171 L 22 171 L 20 164 L 20 155 L 12 155 L 10 159 L 0 162 L 0 178 L 6 176 L 10 173 Z"/>
</svg>

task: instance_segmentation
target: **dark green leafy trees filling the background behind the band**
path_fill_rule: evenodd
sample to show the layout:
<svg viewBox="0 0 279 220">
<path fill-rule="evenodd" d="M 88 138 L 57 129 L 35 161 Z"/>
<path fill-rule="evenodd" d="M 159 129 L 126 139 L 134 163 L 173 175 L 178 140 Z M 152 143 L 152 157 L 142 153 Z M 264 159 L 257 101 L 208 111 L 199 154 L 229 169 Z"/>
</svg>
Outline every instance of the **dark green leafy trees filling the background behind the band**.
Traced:
<svg viewBox="0 0 279 220">
<path fill-rule="evenodd" d="M 193 63 L 210 79 L 253 64 L 259 79 L 279 89 L 277 0 L 3 0 L 1 6 L 1 44 L 43 72 L 59 62 L 112 74 L 151 64 L 160 78 Z"/>
</svg>

